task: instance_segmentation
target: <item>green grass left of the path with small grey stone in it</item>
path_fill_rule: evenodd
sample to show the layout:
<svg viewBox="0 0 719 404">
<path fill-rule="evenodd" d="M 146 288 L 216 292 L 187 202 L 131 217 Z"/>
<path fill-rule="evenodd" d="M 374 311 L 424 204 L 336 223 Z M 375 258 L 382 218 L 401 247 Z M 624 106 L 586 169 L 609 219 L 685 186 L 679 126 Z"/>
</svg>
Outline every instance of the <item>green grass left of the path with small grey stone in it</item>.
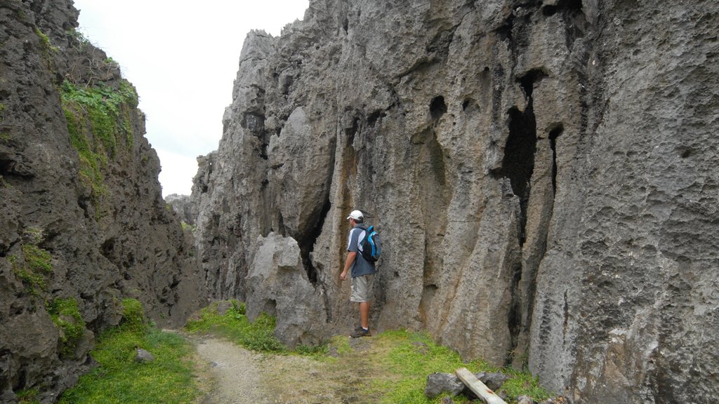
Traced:
<svg viewBox="0 0 719 404">
<path fill-rule="evenodd" d="M 155 361 L 135 362 L 137 348 L 152 353 Z M 191 344 L 176 334 L 112 329 L 91 352 L 100 366 L 80 377 L 60 403 L 194 403 L 202 392 L 193 375 L 192 354 Z"/>
</svg>

